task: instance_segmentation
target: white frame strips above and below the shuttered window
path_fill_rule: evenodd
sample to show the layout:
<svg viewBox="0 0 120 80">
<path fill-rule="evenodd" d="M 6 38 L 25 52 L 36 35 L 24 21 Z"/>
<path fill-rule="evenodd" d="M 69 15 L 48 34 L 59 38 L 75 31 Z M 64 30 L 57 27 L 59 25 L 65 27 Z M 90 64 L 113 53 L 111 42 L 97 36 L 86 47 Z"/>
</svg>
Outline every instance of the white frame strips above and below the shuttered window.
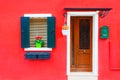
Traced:
<svg viewBox="0 0 120 80">
<path fill-rule="evenodd" d="M 52 14 L 24 14 L 24 17 L 52 17 Z M 35 48 L 35 47 L 30 47 L 30 48 L 24 48 L 24 51 L 52 51 L 52 48 Z"/>
</svg>

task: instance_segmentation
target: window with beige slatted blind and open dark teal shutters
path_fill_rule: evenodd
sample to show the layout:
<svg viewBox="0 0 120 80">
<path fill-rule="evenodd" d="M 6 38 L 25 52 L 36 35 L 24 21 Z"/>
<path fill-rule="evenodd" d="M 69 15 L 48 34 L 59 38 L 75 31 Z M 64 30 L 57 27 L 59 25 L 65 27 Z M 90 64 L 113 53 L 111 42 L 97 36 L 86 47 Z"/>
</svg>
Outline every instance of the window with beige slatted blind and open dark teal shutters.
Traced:
<svg viewBox="0 0 120 80">
<path fill-rule="evenodd" d="M 21 17 L 21 47 L 35 48 L 35 37 L 42 36 L 43 48 L 55 47 L 55 17 Z"/>
</svg>

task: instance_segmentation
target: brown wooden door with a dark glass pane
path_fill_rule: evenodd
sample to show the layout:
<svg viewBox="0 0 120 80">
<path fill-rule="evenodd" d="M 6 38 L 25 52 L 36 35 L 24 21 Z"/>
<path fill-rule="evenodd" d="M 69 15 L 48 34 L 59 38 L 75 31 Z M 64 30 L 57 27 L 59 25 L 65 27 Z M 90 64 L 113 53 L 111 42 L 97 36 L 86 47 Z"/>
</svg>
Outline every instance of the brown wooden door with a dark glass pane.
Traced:
<svg viewBox="0 0 120 80">
<path fill-rule="evenodd" d="M 92 17 L 71 17 L 70 71 L 92 71 Z"/>
</svg>

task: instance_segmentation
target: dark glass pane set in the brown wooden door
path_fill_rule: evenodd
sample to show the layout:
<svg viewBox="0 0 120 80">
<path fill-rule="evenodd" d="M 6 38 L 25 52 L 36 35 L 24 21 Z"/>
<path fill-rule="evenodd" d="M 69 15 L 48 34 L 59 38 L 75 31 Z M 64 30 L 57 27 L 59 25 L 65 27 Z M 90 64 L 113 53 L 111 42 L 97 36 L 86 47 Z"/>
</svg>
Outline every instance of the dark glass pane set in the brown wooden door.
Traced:
<svg viewBox="0 0 120 80">
<path fill-rule="evenodd" d="M 80 19 L 80 49 L 89 49 L 90 48 L 90 20 L 89 19 Z"/>
</svg>

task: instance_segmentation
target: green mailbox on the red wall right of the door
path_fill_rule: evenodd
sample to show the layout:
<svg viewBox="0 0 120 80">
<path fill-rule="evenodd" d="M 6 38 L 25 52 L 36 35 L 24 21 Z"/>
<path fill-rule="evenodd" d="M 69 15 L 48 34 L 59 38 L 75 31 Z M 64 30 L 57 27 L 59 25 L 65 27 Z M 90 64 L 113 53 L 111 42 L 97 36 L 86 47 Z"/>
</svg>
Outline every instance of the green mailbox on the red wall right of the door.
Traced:
<svg viewBox="0 0 120 80">
<path fill-rule="evenodd" d="M 109 38 L 108 26 L 102 26 L 100 29 L 100 38 Z"/>
</svg>

